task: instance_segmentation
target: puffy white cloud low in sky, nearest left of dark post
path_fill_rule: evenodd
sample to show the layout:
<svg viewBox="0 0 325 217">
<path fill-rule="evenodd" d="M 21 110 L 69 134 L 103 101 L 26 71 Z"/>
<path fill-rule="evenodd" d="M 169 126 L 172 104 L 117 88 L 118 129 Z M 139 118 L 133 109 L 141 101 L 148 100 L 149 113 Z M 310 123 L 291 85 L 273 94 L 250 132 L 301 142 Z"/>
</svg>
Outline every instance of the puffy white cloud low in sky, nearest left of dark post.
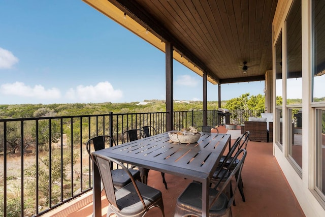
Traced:
<svg viewBox="0 0 325 217">
<path fill-rule="evenodd" d="M 76 89 L 70 88 L 66 97 L 76 102 L 114 102 L 123 97 L 123 92 L 114 89 L 108 81 L 100 82 L 95 86 L 79 85 Z"/>
</svg>

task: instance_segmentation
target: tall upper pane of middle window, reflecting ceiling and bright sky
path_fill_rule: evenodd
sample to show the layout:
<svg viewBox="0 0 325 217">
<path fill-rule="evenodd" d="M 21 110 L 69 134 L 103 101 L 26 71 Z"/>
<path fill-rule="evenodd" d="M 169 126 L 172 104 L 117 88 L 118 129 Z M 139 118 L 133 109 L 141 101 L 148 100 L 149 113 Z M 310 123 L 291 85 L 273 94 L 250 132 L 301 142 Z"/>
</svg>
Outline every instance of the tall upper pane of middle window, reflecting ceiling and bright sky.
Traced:
<svg viewBox="0 0 325 217">
<path fill-rule="evenodd" d="M 301 1 L 295 0 L 286 20 L 286 99 L 287 104 L 301 104 Z"/>
</svg>

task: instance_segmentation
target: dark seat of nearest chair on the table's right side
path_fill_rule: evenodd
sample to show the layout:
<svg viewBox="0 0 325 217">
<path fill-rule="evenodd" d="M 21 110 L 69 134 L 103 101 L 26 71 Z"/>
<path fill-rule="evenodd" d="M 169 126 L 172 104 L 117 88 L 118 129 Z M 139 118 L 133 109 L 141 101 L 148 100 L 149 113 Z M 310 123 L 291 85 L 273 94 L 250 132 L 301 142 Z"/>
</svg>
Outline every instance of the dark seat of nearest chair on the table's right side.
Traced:
<svg viewBox="0 0 325 217">
<path fill-rule="evenodd" d="M 217 190 L 212 188 L 209 189 L 209 203 L 213 201 L 217 194 Z M 227 212 L 228 201 L 229 199 L 223 193 L 221 193 L 216 202 L 210 208 L 209 214 L 213 216 L 215 214 L 220 215 Z M 184 192 L 178 197 L 177 206 L 182 207 L 182 209 L 187 209 L 187 207 L 190 207 L 189 210 L 195 210 L 198 213 L 202 213 L 202 184 L 191 182 Z"/>
</svg>

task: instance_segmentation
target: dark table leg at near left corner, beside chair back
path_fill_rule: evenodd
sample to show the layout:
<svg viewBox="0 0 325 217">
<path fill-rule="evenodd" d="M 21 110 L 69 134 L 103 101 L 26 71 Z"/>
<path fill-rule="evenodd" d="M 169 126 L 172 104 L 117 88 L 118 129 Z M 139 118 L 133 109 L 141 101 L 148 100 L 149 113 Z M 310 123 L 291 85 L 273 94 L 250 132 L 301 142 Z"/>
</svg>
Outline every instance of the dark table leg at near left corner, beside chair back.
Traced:
<svg viewBox="0 0 325 217">
<path fill-rule="evenodd" d="M 92 202 L 92 216 L 102 217 L 101 175 L 98 166 L 94 162 L 92 163 Z"/>
</svg>

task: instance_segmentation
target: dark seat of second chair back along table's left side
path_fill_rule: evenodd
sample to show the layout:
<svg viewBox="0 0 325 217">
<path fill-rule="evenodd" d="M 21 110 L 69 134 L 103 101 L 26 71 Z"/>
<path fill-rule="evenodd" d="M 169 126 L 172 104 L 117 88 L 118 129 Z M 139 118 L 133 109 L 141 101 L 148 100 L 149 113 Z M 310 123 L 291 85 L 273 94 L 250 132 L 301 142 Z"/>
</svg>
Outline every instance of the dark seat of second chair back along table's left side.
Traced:
<svg viewBox="0 0 325 217">
<path fill-rule="evenodd" d="M 135 179 L 139 179 L 141 177 L 139 170 L 129 169 L 129 171 L 131 172 L 132 176 Z M 112 178 L 113 178 L 113 182 L 114 182 L 114 187 L 116 189 L 120 189 L 120 188 L 124 187 L 126 184 L 131 182 L 130 177 L 127 175 L 127 173 L 123 169 L 112 170 Z"/>
</svg>

